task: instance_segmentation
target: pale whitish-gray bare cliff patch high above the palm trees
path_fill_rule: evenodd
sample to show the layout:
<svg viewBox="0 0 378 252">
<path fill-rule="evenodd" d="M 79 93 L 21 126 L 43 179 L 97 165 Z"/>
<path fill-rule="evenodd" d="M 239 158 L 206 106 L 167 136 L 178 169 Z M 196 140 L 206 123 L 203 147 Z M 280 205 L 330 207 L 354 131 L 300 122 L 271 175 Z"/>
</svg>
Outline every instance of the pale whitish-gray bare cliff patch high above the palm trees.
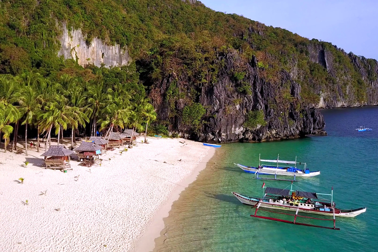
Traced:
<svg viewBox="0 0 378 252">
<path fill-rule="evenodd" d="M 58 57 L 64 59 L 74 59 L 82 65 L 94 64 L 106 67 L 127 65 L 130 62 L 127 48 L 120 45 L 107 45 L 100 39 L 94 38 L 90 45 L 86 44 L 85 35 L 81 30 L 71 30 L 68 32 L 66 24 L 62 24 L 62 35 L 58 37 L 61 42 L 61 49 Z"/>
</svg>

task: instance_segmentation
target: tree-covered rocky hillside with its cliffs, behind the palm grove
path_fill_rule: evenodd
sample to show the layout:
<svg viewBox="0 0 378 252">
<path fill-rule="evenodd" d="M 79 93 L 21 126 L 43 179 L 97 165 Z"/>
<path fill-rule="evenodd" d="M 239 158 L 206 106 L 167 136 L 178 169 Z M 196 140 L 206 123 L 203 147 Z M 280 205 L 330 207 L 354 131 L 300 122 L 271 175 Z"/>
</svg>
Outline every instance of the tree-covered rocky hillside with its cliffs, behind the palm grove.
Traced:
<svg viewBox="0 0 378 252">
<path fill-rule="evenodd" d="M 81 29 L 88 44 L 98 37 L 127 48 L 133 60 L 130 67 L 139 76 L 135 87 L 146 88 L 158 109 L 160 126 L 181 133 L 230 133 L 229 128 L 219 127 L 215 116 L 239 113 L 242 119 L 235 127 L 244 131 L 238 138 L 295 136 L 311 131 L 302 130 L 305 108 L 378 101 L 375 60 L 189 0 L 3 0 L 0 74 L 33 71 L 55 82 L 63 74 L 81 83 L 103 78 L 101 68 L 83 68 L 57 57 L 63 22 L 70 29 Z M 209 98 L 217 85 L 224 89 L 219 95 L 227 98 L 215 108 L 205 96 Z M 264 86 L 270 87 L 270 98 Z M 197 103 L 204 113 L 183 120 Z M 262 111 L 267 124 L 243 126 L 253 111 Z M 267 133 L 285 126 L 293 130 Z M 265 136 L 246 137 L 262 128 Z"/>
</svg>

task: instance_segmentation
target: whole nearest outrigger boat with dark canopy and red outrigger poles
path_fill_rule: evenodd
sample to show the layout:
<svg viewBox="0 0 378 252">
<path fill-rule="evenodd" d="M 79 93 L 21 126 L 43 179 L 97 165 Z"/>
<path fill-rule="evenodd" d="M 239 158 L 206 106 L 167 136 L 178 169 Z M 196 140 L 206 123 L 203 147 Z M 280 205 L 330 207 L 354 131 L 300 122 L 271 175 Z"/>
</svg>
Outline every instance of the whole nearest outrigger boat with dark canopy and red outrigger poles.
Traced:
<svg viewBox="0 0 378 252">
<path fill-rule="evenodd" d="M 253 208 L 255 207 L 256 210 L 254 215 L 251 217 L 272 220 L 272 221 L 281 221 L 291 224 L 297 225 L 305 225 L 305 226 L 314 226 L 314 227 L 321 227 L 321 228 L 328 228 L 328 229 L 336 229 L 340 230 L 340 228 L 336 228 L 336 217 L 356 217 L 362 213 L 366 212 L 365 207 L 357 208 L 357 209 L 350 209 L 350 210 L 341 210 L 340 208 L 336 208 L 336 204 L 333 202 L 333 188 L 331 190 L 331 194 L 325 193 L 315 193 L 315 192 L 307 192 L 307 191 L 299 191 L 292 189 L 293 184 L 291 183 L 290 189 L 278 189 L 278 188 L 270 188 L 265 187 L 265 183 L 263 184 L 262 188 L 265 189 L 263 196 L 261 198 L 257 197 L 248 197 L 237 192 L 232 192 L 234 196 L 243 204 L 252 205 Z M 331 200 L 326 199 L 319 199 L 323 195 L 331 196 Z M 268 208 L 268 209 L 276 209 L 276 210 L 284 210 L 284 211 L 293 211 L 293 214 L 285 214 L 285 213 L 278 213 L 273 211 L 268 211 L 276 214 L 284 214 L 294 216 L 294 221 L 286 221 L 282 219 L 276 219 L 271 217 L 265 216 L 258 216 L 257 210 L 259 208 Z M 260 209 L 262 210 L 262 209 Z M 298 215 L 298 212 L 310 213 L 315 215 L 325 215 L 325 216 L 333 216 L 333 227 L 327 226 L 319 226 L 319 225 L 312 225 L 308 223 L 301 223 L 296 222 L 297 217 L 301 218 L 309 218 L 321 221 L 332 221 L 330 219 L 319 219 L 313 218 L 308 216 L 301 216 Z"/>
</svg>

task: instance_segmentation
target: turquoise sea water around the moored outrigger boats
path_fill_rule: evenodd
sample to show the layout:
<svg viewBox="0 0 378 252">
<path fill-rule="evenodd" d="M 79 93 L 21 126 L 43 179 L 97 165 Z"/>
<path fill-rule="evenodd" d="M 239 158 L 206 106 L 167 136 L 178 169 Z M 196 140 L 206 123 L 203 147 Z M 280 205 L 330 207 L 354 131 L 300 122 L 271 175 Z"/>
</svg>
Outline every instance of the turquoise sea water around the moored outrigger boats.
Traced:
<svg viewBox="0 0 378 252">
<path fill-rule="evenodd" d="M 378 251 L 378 107 L 324 110 L 323 114 L 328 136 L 223 144 L 197 180 L 174 202 L 155 251 Z M 355 131 L 360 125 L 373 130 Z M 263 180 L 254 179 L 253 174 L 243 172 L 233 162 L 258 165 L 259 154 L 267 159 L 280 154 L 285 160 L 297 156 L 298 161 L 321 174 L 297 178 L 300 181 L 296 185 L 323 193 L 330 193 L 333 186 L 337 207 L 365 206 L 366 213 L 337 218 L 340 231 L 250 217 L 254 209 L 241 204 L 231 191 L 261 196 Z M 290 182 L 265 184 L 284 188 Z M 331 221 L 311 223 L 332 226 Z"/>
</svg>

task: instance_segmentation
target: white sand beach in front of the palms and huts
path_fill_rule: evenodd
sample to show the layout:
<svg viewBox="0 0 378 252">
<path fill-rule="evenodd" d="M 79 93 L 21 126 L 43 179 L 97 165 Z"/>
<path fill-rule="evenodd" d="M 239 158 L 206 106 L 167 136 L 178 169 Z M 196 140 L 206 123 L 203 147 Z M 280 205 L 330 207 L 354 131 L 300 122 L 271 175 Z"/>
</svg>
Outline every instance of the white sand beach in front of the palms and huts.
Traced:
<svg viewBox="0 0 378 252">
<path fill-rule="evenodd" d="M 44 149 L 0 150 L 0 251 L 153 250 L 162 218 L 215 151 L 181 138 L 142 140 L 108 151 L 101 166 L 71 161 L 66 173 L 42 167 Z"/>
</svg>

